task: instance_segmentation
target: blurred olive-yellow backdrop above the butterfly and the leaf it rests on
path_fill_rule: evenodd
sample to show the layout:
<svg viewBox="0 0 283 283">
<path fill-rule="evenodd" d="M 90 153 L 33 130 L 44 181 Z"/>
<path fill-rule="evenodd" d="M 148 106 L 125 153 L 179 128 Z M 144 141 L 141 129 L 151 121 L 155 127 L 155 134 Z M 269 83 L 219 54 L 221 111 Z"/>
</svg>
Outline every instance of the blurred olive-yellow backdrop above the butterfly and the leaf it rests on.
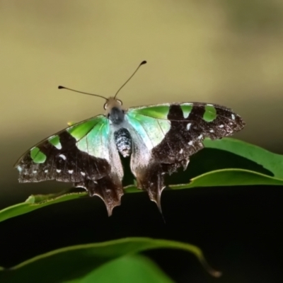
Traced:
<svg viewBox="0 0 283 283">
<path fill-rule="evenodd" d="M 283 153 L 282 1 L 0 1 L 0 27 L 0 197 L 26 195 L 12 166 L 30 146 L 103 112 L 59 84 L 111 96 L 144 59 L 126 107 L 226 105 L 236 137 Z"/>
</svg>

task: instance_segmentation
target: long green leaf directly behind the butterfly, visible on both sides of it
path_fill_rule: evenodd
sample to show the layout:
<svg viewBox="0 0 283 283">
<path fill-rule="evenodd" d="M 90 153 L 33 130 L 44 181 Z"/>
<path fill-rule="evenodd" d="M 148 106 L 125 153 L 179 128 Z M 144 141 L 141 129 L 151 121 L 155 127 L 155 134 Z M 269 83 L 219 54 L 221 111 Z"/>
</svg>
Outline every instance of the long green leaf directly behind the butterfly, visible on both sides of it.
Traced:
<svg viewBox="0 0 283 283">
<path fill-rule="evenodd" d="M 231 185 L 283 185 L 283 156 L 237 139 L 204 141 L 207 149 L 192 156 L 185 173 L 175 174 L 173 190 Z M 185 177 L 185 182 L 181 178 Z M 182 181 L 181 181 L 182 179 Z M 190 180 L 190 183 L 187 183 Z M 183 183 L 183 184 L 180 184 Z M 140 192 L 135 185 L 126 192 Z M 86 197 L 86 192 L 32 195 L 23 203 L 0 211 L 0 221 L 50 204 Z"/>
</svg>

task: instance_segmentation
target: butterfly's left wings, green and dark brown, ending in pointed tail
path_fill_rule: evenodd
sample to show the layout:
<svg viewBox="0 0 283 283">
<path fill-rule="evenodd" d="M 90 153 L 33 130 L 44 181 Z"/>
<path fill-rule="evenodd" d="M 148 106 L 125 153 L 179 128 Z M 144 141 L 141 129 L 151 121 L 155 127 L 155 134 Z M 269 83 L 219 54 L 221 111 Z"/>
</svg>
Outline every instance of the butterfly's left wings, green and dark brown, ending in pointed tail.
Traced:
<svg viewBox="0 0 283 283">
<path fill-rule="evenodd" d="M 72 125 L 27 151 L 18 161 L 20 182 L 58 180 L 98 195 L 108 214 L 122 197 L 122 164 L 104 115 Z"/>
</svg>

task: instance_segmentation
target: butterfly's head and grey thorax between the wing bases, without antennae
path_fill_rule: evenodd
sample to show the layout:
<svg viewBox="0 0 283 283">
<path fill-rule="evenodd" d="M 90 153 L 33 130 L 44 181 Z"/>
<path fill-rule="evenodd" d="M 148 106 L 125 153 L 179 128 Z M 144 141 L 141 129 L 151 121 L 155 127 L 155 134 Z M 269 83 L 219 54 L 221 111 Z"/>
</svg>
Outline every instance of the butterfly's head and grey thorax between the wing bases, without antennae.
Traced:
<svg viewBox="0 0 283 283">
<path fill-rule="evenodd" d="M 116 98 L 108 98 L 104 104 L 105 116 L 114 125 L 120 125 L 124 122 L 125 110 L 122 108 L 122 101 Z"/>
</svg>

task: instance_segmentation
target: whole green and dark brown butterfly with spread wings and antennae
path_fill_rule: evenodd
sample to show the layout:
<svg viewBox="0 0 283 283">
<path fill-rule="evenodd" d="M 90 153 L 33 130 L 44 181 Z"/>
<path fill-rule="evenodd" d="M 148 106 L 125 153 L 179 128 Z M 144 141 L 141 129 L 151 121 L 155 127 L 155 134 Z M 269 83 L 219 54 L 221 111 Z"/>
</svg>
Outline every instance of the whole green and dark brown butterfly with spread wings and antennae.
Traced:
<svg viewBox="0 0 283 283">
<path fill-rule="evenodd" d="M 120 155 L 130 156 L 137 187 L 161 210 L 165 175 L 185 170 L 190 156 L 204 147 L 204 138 L 231 136 L 245 126 L 221 105 L 163 103 L 125 109 L 117 93 L 105 98 L 103 115 L 71 125 L 23 154 L 15 165 L 19 182 L 73 183 L 100 197 L 110 216 L 123 195 Z"/>
</svg>

